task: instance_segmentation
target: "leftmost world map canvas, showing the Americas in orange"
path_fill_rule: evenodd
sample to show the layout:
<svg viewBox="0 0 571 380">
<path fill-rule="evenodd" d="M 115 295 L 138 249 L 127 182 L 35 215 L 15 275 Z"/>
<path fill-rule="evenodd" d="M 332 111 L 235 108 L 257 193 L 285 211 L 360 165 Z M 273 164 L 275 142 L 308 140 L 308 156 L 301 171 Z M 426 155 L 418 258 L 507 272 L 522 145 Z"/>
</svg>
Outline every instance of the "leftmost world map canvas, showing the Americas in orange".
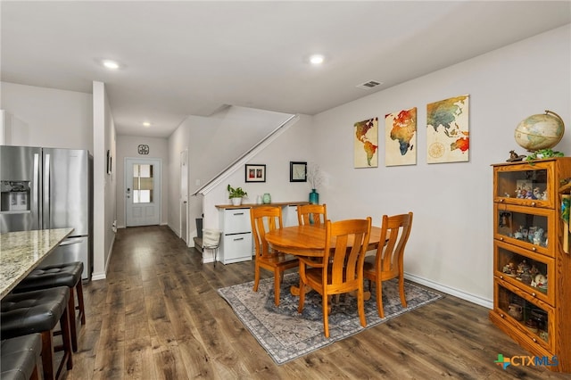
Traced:
<svg viewBox="0 0 571 380">
<path fill-rule="evenodd" d="M 355 168 L 377 168 L 378 118 L 358 121 L 354 124 L 354 129 Z"/>
</svg>

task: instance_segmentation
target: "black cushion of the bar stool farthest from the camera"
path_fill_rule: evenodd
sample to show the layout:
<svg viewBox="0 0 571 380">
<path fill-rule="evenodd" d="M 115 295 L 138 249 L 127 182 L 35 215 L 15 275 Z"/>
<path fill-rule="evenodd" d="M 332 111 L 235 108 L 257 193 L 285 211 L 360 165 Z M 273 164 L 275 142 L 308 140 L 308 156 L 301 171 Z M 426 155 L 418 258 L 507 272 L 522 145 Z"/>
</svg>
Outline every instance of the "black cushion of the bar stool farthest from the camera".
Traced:
<svg viewBox="0 0 571 380">
<path fill-rule="evenodd" d="M 66 264 L 49 265 L 36 268 L 21 280 L 12 293 L 29 292 L 57 286 L 75 287 L 81 281 L 83 262 L 75 261 Z"/>
</svg>

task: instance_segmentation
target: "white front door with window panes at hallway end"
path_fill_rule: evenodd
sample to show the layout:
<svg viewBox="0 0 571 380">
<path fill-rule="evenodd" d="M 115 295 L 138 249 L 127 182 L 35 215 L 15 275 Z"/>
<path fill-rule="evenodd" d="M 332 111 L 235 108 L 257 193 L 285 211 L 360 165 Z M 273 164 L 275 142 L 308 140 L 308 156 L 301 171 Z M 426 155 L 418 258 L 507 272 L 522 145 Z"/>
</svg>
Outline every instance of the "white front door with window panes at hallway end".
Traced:
<svg viewBox="0 0 571 380">
<path fill-rule="evenodd" d="M 125 159 L 127 227 L 161 224 L 161 160 Z"/>
</svg>

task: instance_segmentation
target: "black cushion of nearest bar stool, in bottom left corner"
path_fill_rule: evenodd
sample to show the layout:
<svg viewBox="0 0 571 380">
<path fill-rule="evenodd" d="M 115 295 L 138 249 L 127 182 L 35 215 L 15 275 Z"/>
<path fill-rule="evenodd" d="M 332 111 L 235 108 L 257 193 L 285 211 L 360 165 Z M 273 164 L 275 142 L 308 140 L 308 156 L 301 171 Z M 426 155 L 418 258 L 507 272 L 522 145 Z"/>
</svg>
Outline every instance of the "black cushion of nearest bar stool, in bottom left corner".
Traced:
<svg viewBox="0 0 571 380">
<path fill-rule="evenodd" d="M 22 335 L 2 341 L 0 362 L 2 380 L 29 380 L 39 362 L 42 338 L 39 334 Z"/>
</svg>

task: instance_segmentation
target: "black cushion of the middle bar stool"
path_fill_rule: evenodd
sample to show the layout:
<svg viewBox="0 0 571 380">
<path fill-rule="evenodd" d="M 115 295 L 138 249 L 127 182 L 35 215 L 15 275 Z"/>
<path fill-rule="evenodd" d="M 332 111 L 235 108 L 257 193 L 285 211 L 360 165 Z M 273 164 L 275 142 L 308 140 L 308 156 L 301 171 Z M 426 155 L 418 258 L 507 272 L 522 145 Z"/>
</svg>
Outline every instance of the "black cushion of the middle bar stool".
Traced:
<svg viewBox="0 0 571 380">
<path fill-rule="evenodd" d="M 54 329 L 69 300 L 67 286 L 6 295 L 0 306 L 2 339 Z"/>
</svg>

